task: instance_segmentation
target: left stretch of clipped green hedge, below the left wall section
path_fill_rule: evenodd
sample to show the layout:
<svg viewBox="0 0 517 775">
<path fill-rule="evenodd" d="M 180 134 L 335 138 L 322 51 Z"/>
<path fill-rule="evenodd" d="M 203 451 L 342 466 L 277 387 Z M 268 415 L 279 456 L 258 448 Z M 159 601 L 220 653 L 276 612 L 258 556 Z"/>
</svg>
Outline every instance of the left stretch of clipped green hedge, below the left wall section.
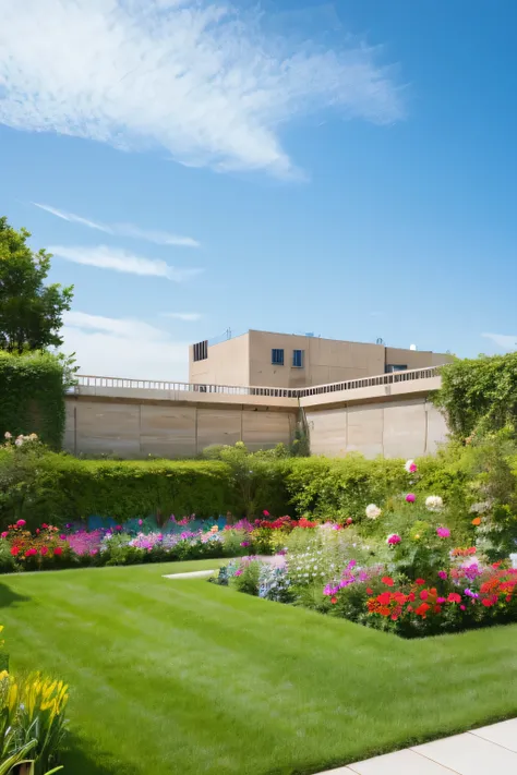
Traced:
<svg viewBox="0 0 517 775">
<path fill-rule="evenodd" d="M 233 507 L 229 469 L 218 461 L 81 460 L 0 449 L 0 523 L 60 525 L 96 514 L 123 522 L 171 513 L 212 517 Z"/>
</svg>

